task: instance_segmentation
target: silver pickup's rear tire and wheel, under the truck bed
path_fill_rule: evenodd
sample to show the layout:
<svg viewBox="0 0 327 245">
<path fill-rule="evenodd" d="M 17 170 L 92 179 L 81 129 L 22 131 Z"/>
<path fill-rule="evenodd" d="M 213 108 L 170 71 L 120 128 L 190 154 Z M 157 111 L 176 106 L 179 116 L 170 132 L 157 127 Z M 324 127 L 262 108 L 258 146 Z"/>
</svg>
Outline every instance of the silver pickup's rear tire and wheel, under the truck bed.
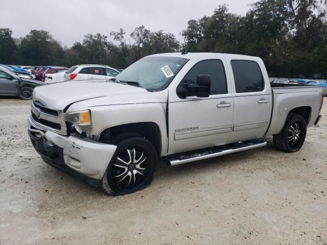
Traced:
<svg viewBox="0 0 327 245">
<path fill-rule="evenodd" d="M 274 145 L 279 151 L 297 152 L 307 135 L 307 122 L 301 115 L 290 114 L 279 134 L 273 136 Z"/>
</svg>

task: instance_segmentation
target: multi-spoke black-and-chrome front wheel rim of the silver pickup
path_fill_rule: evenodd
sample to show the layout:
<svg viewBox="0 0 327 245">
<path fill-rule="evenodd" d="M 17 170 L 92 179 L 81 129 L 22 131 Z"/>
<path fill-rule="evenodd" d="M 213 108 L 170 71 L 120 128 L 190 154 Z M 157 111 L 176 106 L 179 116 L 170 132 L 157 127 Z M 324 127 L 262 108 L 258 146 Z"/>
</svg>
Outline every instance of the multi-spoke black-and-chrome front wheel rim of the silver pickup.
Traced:
<svg viewBox="0 0 327 245">
<path fill-rule="evenodd" d="M 142 148 L 129 147 L 123 150 L 112 164 L 111 177 L 120 188 L 131 190 L 141 185 L 147 177 L 149 166 Z"/>
</svg>

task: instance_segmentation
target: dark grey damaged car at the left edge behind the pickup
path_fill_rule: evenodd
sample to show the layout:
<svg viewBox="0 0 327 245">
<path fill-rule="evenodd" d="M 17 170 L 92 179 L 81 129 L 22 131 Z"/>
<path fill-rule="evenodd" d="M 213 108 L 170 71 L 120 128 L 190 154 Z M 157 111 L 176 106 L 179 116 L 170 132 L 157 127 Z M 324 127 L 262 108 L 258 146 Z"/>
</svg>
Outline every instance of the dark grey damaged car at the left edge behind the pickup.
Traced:
<svg viewBox="0 0 327 245">
<path fill-rule="evenodd" d="M 21 100 L 30 100 L 33 89 L 43 84 L 34 79 L 21 78 L 14 72 L 0 67 L 0 95 L 18 96 Z"/>
</svg>

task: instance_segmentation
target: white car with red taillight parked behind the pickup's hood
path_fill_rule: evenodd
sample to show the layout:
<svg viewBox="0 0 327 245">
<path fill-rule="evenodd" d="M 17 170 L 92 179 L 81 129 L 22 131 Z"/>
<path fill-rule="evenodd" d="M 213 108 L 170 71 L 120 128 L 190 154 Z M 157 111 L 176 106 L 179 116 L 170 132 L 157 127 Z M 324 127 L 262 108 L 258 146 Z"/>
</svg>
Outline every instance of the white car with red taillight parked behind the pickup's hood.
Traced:
<svg viewBox="0 0 327 245">
<path fill-rule="evenodd" d="M 74 65 L 64 74 L 64 81 L 68 80 L 107 80 L 120 72 L 106 65 Z"/>
</svg>

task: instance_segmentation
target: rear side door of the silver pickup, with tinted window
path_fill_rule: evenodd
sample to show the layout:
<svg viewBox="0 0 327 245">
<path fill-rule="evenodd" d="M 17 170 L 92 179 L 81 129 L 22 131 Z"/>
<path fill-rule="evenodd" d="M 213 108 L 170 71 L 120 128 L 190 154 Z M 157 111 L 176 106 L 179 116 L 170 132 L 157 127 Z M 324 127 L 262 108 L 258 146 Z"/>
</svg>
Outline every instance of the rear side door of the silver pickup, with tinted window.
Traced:
<svg viewBox="0 0 327 245">
<path fill-rule="evenodd" d="M 264 66 L 262 61 L 258 62 Z M 261 138 L 265 135 L 271 115 L 271 89 L 265 87 L 268 75 L 259 63 L 251 60 L 228 62 L 234 97 L 233 129 L 229 143 Z M 264 72 L 266 72 L 264 70 Z"/>
</svg>

